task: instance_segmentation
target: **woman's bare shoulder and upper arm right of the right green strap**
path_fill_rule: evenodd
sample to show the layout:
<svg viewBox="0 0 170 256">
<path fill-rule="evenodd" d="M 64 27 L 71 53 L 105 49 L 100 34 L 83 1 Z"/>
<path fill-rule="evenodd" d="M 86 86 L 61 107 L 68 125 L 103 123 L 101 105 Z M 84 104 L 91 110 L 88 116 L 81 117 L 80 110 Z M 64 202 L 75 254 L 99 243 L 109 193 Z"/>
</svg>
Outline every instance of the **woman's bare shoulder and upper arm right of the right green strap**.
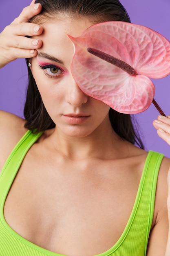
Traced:
<svg viewBox="0 0 170 256">
<path fill-rule="evenodd" d="M 152 221 L 152 228 L 148 241 L 148 256 L 163 256 L 166 251 L 166 243 L 168 237 L 168 170 L 170 167 L 170 159 L 164 157 L 159 169 L 157 180 L 157 189 L 155 195 L 155 209 Z"/>
</svg>

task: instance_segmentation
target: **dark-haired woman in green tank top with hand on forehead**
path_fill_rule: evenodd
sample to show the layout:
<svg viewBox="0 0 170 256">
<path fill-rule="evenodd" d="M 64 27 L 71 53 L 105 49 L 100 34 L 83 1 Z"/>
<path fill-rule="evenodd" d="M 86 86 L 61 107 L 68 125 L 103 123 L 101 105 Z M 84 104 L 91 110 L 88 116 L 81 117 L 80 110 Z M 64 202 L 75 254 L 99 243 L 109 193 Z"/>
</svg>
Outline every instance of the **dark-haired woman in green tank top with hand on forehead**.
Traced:
<svg viewBox="0 0 170 256">
<path fill-rule="evenodd" d="M 107 20 L 130 22 L 118 0 L 39 0 L 0 34 L 0 67 L 29 69 L 25 120 L 0 113 L 0 255 L 165 255 L 170 160 L 71 74 L 65 31 Z"/>
</svg>

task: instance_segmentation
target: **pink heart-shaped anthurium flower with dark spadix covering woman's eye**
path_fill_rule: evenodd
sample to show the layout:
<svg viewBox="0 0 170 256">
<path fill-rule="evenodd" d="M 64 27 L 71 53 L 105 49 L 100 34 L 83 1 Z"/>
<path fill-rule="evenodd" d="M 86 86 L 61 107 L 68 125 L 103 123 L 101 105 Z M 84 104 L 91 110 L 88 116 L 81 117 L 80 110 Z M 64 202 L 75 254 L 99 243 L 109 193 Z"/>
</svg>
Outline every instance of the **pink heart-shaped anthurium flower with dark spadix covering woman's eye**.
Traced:
<svg viewBox="0 0 170 256">
<path fill-rule="evenodd" d="M 146 110 L 155 95 L 150 78 L 170 74 L 170 42 L 147 27 L 109 21 L 68 37 L 75 47 L 71 72 L 79 88 L 118 112 Z"/>
</svg>

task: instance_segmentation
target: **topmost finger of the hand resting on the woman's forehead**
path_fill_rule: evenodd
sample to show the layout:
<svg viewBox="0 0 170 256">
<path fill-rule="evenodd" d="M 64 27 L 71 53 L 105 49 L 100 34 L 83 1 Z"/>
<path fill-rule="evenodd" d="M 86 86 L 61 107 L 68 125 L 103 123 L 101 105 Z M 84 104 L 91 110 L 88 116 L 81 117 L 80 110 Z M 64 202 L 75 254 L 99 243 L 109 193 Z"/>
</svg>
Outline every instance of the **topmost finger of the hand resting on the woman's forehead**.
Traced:
<svg viewBox="0 0 170 256">
<path fill-rule="evenodd" d="M 22 10 L 22 12 L 20 13 L 20 15 L 18 16 L 18 18 L 15 18 L 15 20 L 11 24 L 29 22 L 29 20 L 31 18 L 33 18 L 33 16 L 40 13 L 41 10 L 42 10 L 42 5 L 41 4 L 31 4 L 27 7 L 25 7 Z"/>
</svg>

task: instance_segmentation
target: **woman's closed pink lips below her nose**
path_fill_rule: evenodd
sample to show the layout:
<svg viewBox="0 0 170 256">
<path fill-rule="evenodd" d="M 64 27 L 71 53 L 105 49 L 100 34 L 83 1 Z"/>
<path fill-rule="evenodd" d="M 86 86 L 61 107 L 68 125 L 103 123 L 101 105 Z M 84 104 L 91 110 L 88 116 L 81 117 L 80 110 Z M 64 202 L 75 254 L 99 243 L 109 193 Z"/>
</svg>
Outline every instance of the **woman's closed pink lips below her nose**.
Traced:
<svg viewBox="0 0 170 256">
<path fill-rule="evenodd" d="M 63 117 L 68 124 L 83 124 L 90 116 L 84 114 L 66 114 Z"/>
</svg>

